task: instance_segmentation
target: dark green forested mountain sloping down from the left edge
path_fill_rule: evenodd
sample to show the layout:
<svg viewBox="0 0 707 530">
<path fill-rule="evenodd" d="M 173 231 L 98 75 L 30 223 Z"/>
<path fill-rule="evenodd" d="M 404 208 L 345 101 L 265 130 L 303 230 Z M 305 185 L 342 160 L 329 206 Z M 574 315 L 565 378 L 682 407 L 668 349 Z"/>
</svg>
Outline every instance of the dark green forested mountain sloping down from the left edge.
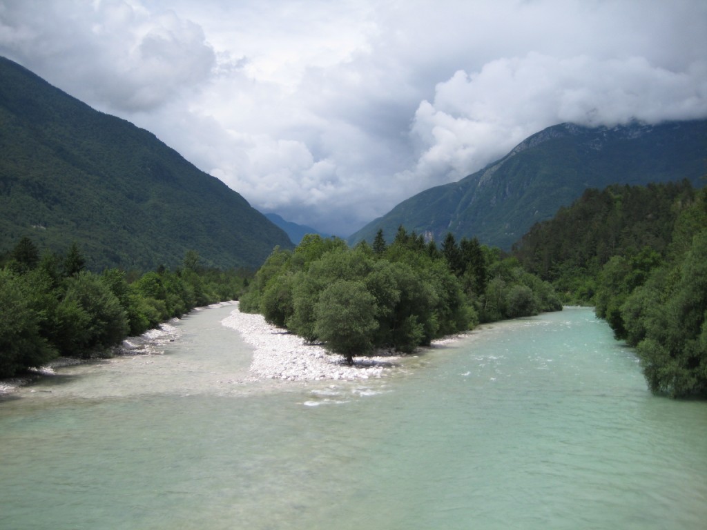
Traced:
<svg viewBox="0 0 707 530">
<path fill-rule="evenodd" d="M 257 267 L 286 233 L 156 136 L 0 57 L 0 253 L 23 236 L 91 269 L 153 269 L 187 250 Z"/>
</svg>

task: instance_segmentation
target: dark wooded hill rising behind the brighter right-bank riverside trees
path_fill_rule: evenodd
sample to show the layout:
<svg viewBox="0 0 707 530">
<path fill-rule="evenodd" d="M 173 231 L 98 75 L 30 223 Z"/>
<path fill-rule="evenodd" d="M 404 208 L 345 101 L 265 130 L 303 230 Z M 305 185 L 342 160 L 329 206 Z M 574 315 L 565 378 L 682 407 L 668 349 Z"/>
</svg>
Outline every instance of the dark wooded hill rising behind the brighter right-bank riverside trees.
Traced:
<svg viewBox="0 0 707 530">
<path fill-rule="evenodd" d="M 513 255 L 550 281 L 564 302 L 591 303 L 604 264 L 644 248 L 664 253 L 679 211 L 695 198 L 688 180 L 590 188 L 551 220 L 533 225 Z"/>
</svg>

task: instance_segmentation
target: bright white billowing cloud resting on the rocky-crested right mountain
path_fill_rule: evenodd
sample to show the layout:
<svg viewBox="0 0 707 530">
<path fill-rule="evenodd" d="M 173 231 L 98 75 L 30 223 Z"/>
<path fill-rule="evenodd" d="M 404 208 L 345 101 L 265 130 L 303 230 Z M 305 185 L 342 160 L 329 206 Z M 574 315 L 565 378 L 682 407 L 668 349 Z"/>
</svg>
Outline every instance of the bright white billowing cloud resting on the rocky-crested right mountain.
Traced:
<svg viewBox="0 0 707 530">
<path fill-rule="evenodd" d="M 423 182 L 458 180 L 547 126 L 655 123 L 707 116 L 707 64 L 670 71 L 644 57 L 558 59 L 530 53 L 457 71 L 419 105 L 411 134 Z"/>
</svg>

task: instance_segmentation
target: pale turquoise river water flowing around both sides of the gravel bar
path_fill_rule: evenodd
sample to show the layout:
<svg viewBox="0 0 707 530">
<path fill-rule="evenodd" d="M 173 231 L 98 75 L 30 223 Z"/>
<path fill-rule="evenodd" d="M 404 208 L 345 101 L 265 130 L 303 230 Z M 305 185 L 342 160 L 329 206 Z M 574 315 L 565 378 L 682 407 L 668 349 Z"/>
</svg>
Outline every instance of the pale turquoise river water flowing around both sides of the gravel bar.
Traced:
<svg viewBox="0 0 707 530">
<path fill-rule="evenodd" d="M 707 404 L 651 396 L 591 310 L 496 324 L 382 379 L 250 380 L 232 307 L 164 355 L 0 401 L 2 529 L 696 529 Z M 34 390 L 34 391 L 33 391 Z"/>
</svg>

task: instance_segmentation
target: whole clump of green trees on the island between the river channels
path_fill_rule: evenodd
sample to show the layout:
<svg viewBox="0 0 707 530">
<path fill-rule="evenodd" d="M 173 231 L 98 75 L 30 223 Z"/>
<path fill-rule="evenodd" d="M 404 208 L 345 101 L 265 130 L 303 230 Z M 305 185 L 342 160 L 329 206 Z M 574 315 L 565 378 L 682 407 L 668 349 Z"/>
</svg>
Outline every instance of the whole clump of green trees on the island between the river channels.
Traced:
<svg viewBox="0 0 707 530">
<path fill-rule="evenodd" d="M 498 249 L 476 239 L 457 244 L 451 234 L 438 248 L 401 227 L 390 245 L 379 231 L 372 246 L 307 235 L 294 251 L 275 249 L 240 309 L 352 363 L 373 348 L 410 353 L 479 322 L 561 304 L 549 283 Z"/>
</svg>

